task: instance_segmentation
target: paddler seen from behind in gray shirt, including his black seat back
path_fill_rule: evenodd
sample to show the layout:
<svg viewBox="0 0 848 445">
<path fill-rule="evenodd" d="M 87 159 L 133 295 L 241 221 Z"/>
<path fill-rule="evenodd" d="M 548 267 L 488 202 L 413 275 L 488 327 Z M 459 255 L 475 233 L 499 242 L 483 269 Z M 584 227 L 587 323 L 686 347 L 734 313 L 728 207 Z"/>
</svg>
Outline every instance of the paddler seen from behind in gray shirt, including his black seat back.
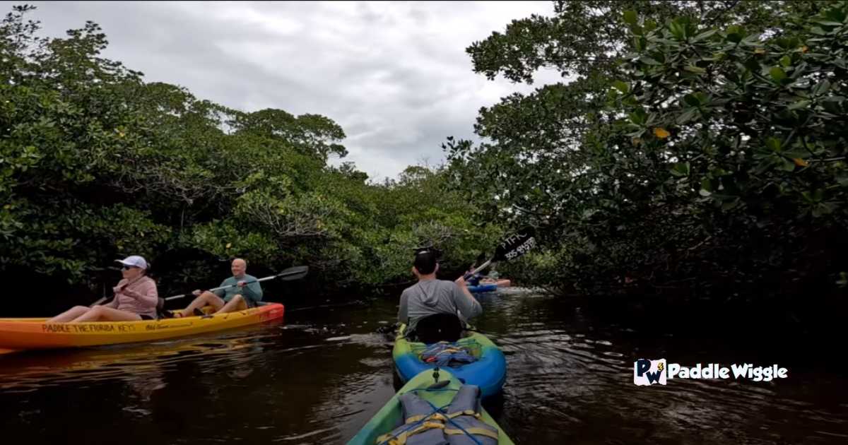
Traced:
<svg viewBox="0 0 848 445">
<path fill-rule="evenodd" d="M 436 252 L 423 249 L 416 253 L 412 273 L 418 282 L 400 295 L 398 320 L 408 326 L 407 337 L 425 343 L 455 342 L 462 333 L 460 316 L 469 320 L 483 308 L 468 292 L 466 281 L 437 280 Z"/>
</svg>

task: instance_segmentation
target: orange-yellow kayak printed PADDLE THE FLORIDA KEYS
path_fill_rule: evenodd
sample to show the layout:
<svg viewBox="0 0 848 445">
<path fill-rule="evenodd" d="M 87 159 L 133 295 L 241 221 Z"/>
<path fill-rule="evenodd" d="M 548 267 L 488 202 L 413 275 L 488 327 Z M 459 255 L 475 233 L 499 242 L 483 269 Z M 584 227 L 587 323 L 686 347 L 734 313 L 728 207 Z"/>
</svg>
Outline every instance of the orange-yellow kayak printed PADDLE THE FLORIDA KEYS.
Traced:
<svg viewBox="0 0 848 445">
<path fill-rule="evenodd" d="M 0 353 L 24 349 L 79 348 L 149 342 L 223 331 L 282 318 L 284 307 L 269 303 L 228 314 L 140 321 L 45 323 L 47 319 L 0 319 Z"/>
</svg>

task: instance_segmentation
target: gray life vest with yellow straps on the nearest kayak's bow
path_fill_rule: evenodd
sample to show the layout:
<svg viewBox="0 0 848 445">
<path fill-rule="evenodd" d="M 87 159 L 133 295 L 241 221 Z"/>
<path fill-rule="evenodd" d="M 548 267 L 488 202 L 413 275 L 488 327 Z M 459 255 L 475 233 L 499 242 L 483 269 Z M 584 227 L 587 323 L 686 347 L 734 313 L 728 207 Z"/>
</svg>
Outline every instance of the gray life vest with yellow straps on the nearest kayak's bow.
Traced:
<svg viewBox="0 0 848 445">
<path fill-rule="evenodd" d="M 427 390 L 423 390 L 427 391 Z M 480 415 L 480 387 L 462 385 L 446 412 L 406 392 L 399 397 L 404 425 L 377 437 L 386 445 L 497 445 L 498 429 Z"/>
</svg>

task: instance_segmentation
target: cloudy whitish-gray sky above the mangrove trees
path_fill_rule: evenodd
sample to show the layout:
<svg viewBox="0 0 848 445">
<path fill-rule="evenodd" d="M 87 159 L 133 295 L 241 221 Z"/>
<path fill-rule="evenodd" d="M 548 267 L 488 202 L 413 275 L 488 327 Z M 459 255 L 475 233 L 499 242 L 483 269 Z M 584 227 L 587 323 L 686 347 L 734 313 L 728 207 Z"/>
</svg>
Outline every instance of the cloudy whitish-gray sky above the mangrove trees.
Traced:
<svg viewBox="0 0 848 445">
<path fill-rule="evenodd" d="M 3 14 L 12 5 L 0 2 Z M 480 107 L 533 86 L 474 74 L 472 42 L 552 2 L 27 2 L 42 34 L 86 20 L 109 38 L 105 57 L 147 81 L 186 86 L 231 108 L 323 114 L 372 180 L 440 164 L 446 136 L 474 139 Z"/>
</svg>

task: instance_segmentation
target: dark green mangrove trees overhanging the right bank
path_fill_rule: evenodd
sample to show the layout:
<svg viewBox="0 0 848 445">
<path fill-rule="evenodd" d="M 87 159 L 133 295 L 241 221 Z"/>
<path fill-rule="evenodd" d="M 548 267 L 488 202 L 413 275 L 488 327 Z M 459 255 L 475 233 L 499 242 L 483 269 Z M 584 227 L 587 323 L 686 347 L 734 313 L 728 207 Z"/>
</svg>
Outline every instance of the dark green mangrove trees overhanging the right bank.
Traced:
<svg viewBox="0 0 848 445">
<path fill-rule="evenodd" d="M 845 281 L 848 3 L 558 2 L 468 48 L 475 71 L 568 81 L 449 140 L 482 219 L 533 220 L 516 274 L 748 298 Z M 494 179 L 494 181 L 493 181 Z"/>
</svg>

